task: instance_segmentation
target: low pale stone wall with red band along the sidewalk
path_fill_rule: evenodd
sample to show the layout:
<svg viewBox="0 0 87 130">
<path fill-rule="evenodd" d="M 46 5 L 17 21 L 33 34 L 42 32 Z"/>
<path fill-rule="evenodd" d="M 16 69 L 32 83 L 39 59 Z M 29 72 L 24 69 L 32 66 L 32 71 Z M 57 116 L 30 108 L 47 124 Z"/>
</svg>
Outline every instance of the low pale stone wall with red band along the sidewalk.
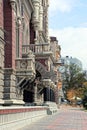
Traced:
<svg viewBox="0 0 87 130">
<path fill-rule="evenodd" d="M 0 130 L 17 130 L 47 115 L 47 107 L 0 108 Z"/>
</svg>

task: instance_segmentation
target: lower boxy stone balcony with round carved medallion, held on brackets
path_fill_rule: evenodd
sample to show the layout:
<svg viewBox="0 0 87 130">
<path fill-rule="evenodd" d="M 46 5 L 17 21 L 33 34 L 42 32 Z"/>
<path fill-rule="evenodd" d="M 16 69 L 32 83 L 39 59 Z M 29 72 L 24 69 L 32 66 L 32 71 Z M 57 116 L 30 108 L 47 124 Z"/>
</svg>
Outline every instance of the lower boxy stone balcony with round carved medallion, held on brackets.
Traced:
<svg viewBox="0 0 87 130">
<path fill-rule="evenodd" d="M 35 57 L 31 51 L 25 58 L 16 58 L 16 75 L 20 78 L 35 78 Z"/>
</svg>

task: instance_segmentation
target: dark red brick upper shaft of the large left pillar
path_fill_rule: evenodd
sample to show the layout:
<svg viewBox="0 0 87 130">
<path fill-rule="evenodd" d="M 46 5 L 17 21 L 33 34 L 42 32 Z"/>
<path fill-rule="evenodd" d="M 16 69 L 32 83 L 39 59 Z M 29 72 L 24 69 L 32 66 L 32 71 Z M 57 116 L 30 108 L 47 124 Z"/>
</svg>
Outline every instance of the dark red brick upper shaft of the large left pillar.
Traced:
<svg viewBox="0 0 87 130">
<path fill-rule="evenodd" d="M 9 0 L 4 2 L 4 29 L 5 40 L 5 67 L 15 68 L 15 17 L 14 12 L 10 6 Z"/>
</svg>

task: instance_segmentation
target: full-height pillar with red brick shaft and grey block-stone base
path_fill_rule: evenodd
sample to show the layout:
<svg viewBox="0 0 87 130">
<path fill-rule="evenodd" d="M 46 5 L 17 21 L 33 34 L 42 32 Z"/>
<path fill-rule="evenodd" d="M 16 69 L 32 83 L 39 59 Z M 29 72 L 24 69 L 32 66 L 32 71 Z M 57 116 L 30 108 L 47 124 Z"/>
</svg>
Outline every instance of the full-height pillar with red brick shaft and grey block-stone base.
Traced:
<svg viewBox="0 0 87 130">
<path fill-rule="evenodd" d="M 10 36 L 6 37 L 5 39 L 6 41 L 9 41 L 9 45 L 5 46 L 5 69 L 4 69 L 4 92 L 3 92 L 4 104 L 3 105 L 6 106 L 24 104 L 23 96 L 17 95 L 17 86 L 16 86 L 16 69 L 15 69 L 15 58 L 16 58 L 15 55 L 16 53 L 16 24 L 15 24 L 16 8 L 15 7 L 16 6 L 15 5 L 17 3 L 16 0 L 10 0 L 9 2 L 11 7 L 8 5 L 8 3 L 4 2 L 5 4 L 4 5 L 5 7 L 4 28 L 7 32 L 10 32 L 9 33 Z M 9 20 L 10 15 L 12 16 L 11 20 Z M 20 19 L 17 20 L 20 23 Z"/>
</svg>

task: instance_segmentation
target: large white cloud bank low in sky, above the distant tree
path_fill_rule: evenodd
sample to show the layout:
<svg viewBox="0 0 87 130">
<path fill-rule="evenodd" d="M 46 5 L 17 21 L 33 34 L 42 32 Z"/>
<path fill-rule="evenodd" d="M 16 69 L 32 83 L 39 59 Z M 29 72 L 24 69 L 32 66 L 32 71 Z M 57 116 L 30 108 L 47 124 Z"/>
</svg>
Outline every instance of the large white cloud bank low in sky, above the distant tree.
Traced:
<svg viewBox="0 0 87 130">
<path fill-rule="evenodd" d="M 49 30 L 51 36 L 56 36 L 61 45 L 62 56 L 76 57 L 87 68 L 87 28 L 68 27 L 61 30 Z"/>
</svg>

